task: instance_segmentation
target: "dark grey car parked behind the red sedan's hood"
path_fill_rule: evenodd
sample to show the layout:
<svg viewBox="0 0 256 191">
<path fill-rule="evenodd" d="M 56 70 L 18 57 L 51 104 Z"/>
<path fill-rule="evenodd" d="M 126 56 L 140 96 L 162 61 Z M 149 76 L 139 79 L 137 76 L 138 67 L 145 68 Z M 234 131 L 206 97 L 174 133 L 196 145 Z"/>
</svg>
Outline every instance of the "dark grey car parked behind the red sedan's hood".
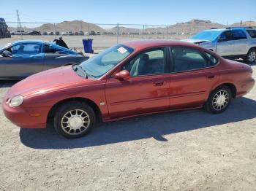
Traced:
<svg viewBox="0 0 256 191">
<path fill-rule="evenodd" d="M 22 79 L 39 71 L 81 63 L 87 59 L 53 42 L 17 41 L 0 48 L 0 80 Z"/>
</svg>

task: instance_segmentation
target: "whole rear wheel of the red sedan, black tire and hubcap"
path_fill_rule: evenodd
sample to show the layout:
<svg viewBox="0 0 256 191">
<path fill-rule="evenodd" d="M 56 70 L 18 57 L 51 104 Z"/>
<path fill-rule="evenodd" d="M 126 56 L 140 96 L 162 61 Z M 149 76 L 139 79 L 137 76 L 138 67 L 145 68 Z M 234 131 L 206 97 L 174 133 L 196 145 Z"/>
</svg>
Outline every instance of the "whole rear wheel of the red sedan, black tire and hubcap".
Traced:
<svg viewBox="0 0 256 191">
<path fill-rule="evenodd" d="M 228 88 L 226 85 L 222 85 L 211 92 L 208 100 L 206 101 L 205 108 L 208 112 L 211 112 L 213 114 L 219 114 L 227 109 L 230 101 L 230 88 Z"/>
</svg>

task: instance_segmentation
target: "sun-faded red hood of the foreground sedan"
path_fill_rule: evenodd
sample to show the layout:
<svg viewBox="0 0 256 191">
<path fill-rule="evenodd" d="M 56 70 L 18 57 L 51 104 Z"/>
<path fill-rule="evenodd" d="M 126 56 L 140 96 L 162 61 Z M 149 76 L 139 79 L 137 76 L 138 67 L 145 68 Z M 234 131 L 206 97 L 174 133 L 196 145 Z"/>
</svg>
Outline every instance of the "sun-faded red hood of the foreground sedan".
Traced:
<svg viewBox="0 0 256 191">
<path fill-rule="evenodd" d="M 7 93 L 8 98 L 14 95 L 38 95 L 48 91 L 60 90 L 67 87 L 76 87 L 89 84 L 95 79 L 86 79 L 78 76 L 72 66 L 64 66 L 32 75 L 13 85 Z"/>
</svg>

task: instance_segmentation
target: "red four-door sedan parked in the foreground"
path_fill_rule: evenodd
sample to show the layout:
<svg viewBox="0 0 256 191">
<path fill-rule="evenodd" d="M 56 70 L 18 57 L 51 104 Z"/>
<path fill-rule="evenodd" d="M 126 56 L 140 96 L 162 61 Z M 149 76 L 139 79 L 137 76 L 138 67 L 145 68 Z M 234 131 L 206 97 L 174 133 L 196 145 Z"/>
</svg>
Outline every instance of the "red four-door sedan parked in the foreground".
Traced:
<svg viewBox="0 0 256 191">
<path fill-rule="evenodd" d="M 21 128 L 45 128 L 54 118 L 67 138 L 97 121 L 205 107 L 218 114 L 255 84 L 252 68 L 196 44 L 117 44 L 80 65 L 35 74 L 10 88 L 2 106 Z"/>
</svg>

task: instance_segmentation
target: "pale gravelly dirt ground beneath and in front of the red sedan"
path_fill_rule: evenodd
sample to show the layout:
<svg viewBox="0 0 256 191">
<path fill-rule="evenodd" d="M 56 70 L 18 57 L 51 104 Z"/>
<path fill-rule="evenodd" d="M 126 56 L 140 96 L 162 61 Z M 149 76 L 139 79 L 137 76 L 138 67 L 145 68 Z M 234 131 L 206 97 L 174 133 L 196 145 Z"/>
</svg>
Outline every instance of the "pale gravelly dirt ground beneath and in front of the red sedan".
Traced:
<svg viewBox="0 0 256 191">
<path fill-rule="evenodd" d="M 256 87 L 222 114 L 102 123 L 76 140 L 20 129 L 0 110 L 0 190 L 256 190 L 255 117 Z"/>
</svg>

